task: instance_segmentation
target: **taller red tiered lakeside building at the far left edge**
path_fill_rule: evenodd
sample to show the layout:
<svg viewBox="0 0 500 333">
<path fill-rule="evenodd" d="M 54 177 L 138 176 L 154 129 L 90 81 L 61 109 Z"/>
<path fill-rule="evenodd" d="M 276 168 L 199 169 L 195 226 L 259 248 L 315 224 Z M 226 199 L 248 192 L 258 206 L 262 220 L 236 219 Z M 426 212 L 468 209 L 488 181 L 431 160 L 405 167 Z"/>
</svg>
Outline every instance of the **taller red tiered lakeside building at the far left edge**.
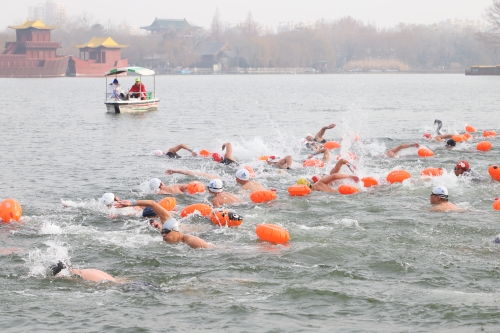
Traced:
<svg viewBox="0 0 500 333">
<path fill-rule="evenodd" d="M 68 57 L 58 56 L 60 44 L 50 40 L 54 27 L 27 21 L 16 30 L 16 41 L 5 43 L 0 54 L 0 77 L 55 77 L 66 75 Z"/>
</svg>

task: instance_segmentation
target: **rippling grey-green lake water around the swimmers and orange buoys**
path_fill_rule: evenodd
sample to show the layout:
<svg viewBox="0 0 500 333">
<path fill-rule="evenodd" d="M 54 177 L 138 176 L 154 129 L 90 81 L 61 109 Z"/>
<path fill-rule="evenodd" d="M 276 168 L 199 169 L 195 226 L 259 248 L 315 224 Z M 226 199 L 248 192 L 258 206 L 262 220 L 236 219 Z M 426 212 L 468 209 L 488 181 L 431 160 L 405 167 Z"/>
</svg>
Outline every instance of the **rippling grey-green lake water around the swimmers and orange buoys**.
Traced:
<svg viewBox="0 0 500 333">
<path fill-rule="evenodd" d="M 422 134 L 433 132 L 434 119 L 448 132 L 466 123 L 500 131 L 499 84 L 500 77 L 463 75 L 160 76 L 158 112 L 112 115 L 105 113 L 103 79 L 0 79 L 0 198 L 16 198 L 24 210 L 23 223 L 0 226 L 0 330 L 495 332 L 500 215 L 491 204 L 500 183 L 486 169 L 500 163 L 500 141 L 480 153 L 477 133 L 453 150 Z M 354 152 L 358 174 L 382 184 L 353 196 L 290 197 L 287 187 L 297 178 L 334 164 L 325 171 L 301 167 L 301 139 L 332 122 L 337 127 L 326 137 L 343 139 L 333 155 Z M 161 199 L 145 192 L 152 177 L 191 180 L 167 176 L 167 168 L 220 174 L 228 191 L 248 198 L 232 167 L 183 151 L 180 160 L 152 153 L 178 143 L 220 152 L 226 141 L 278 199 L 246 199 L 235 207 L 244 216 L 238 228 L 182 220 L 215 249 L 166 244 L 144 219 L 111 218 L 97 204 L 104 192 Z M 418 158 L 415 149 L 383 156 L 409 142 L 435 157 Z M 272 154 L 291 154 L 293 169 L 258 161 Z M 460 159 L 479 182 L 454 176 Z M 445 174 L 421 179 L 428 166 Z M 386 184 L 395 168 L 412 178 Z M 436 184 L 466 211 L 429 211 Z M 207 196 L 176 198 L 180 210 Z M 255 226 L 264 222 L 286 227 L 289 245 L 257 241 Z M 57 260 L 131 282 L 54 278 L 46 268 Z"/>
</svg>

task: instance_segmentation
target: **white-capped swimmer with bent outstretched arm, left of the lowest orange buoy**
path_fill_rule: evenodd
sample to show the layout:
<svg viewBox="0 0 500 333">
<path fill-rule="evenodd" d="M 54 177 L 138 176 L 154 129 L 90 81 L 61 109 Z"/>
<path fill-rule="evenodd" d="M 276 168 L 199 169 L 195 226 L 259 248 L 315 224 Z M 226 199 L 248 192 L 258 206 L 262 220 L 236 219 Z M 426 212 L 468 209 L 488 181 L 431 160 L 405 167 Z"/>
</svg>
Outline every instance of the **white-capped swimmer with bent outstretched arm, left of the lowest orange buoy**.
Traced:
<svg viewBox="0 0 500 333">
<path fill-rule="evenodd" d="M 158 216 L 160 221 L 153 220 L 150 223 L 153 227 L 161 230 L 163 240 L 166 243 L 175 244 L 182 242 L 194 249 L 212 247 L 212 244 L 205 242 L 203 239 L 199 237 L 180 232 L 179 221 L 174 219 L 168 210 L 166 210 L 160 204 L 156 203 L 153 200 L 137 200 L 137 201 L 120 200 L 116 203 L 116 206 L 117 207 L 141 206 L 141 207 L 151 208 L 154 211 L 154 213 Z"/>
</svg>

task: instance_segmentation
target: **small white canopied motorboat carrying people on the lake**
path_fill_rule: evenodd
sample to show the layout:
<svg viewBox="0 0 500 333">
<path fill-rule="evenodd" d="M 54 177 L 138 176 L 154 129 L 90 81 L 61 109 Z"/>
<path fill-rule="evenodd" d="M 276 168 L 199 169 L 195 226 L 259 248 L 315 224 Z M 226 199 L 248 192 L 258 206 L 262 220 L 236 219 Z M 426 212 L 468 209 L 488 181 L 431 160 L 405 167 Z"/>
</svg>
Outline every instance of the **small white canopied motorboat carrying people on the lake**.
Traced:
<svg viewBox="0 0 500 333">
<path fill-rule="evenodd" d="M 122 96 L 116 96 L 115 93 L 109 92 L 109 87 L 113 85 L 113 82 L 108 84 L 110 77 L 118 80 L 118 77 L 122 79 L 125 75 L 135 75 L 142 83 L 143 76 L 153 76 L 153 90 L 147 90 L 145 92 L 139 92 L 135 94 L 122 94 Z M 104 104 L 108 113 L 139 113 L 147 111 L 158 110 L 158 104 L 160 100 L 156 98 L 156 76 L 155 72 L 151 69 L 144 67 L 119 67 L 113 68 L 106 74 L 106 100 Z M 128 90 L 126 90 L 128 92 Z M 134 97 L 134 95 L 138 95 Z"/>
</svg>

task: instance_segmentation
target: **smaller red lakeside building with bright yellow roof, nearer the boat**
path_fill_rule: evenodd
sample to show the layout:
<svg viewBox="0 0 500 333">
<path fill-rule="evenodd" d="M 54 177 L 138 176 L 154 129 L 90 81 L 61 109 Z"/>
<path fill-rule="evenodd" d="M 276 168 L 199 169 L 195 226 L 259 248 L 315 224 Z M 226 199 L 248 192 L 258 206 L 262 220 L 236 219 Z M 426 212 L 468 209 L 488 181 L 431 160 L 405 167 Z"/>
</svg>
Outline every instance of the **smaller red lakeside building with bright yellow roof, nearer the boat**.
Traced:
<svg viewBox="0 0 500 333">
<path fill-rule="evenodd" d="M 112 68 L 128 66 L 128 60 L 121 57 L 121 49 L 127 46 L 111 37 L 94 37 L 76 47 L 80 49 L 80 56 L 70 57 L 68 76 L 103 76 Z"/>
</svg>

